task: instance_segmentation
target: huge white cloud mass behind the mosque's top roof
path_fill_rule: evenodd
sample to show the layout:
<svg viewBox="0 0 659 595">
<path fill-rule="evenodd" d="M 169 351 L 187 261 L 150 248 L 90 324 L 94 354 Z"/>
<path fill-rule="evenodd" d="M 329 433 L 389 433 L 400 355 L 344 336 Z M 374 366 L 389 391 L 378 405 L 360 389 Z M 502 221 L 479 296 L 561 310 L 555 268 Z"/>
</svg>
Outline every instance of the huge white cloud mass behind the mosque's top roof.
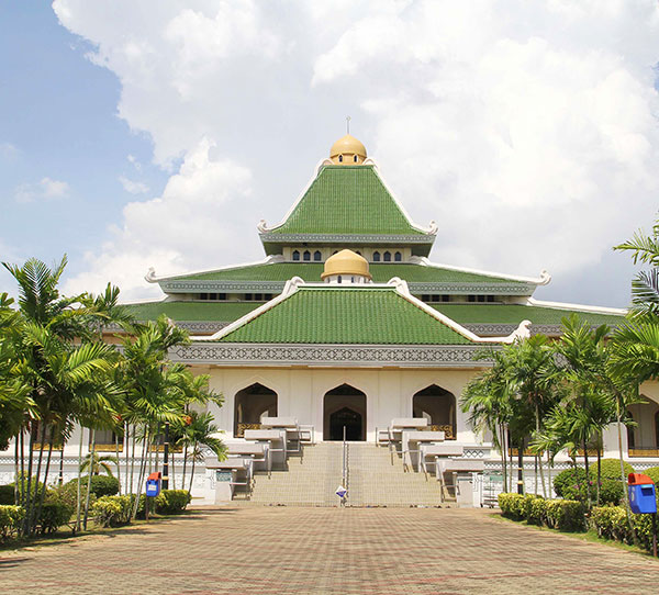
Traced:
<svg viewBox="0 0 659 595">
<path fill-rule="evenodd" d="M 411 214 L 438 222 L 436 260 L 574 274 L 655 215 L 655 0 L 163 0 L 152 11 L 56 0 L 54 9 L 119 77 L 119 113 L 153 137 L 156 162 L 172 168 L 186 156 L 168 188 L 208 212 L 177 207 L 172 234 L 147 234 L 163 266 L 230 262 L 234 240 L 256 240 L 253 222 L 286 212 L 346 113 Z M 191 176 L 183 169 L 203 161 L 202 137 L 217 157 Z M 204 201 L 198 182 L 211 171 L 239 194 L 238 164 L 258 171 L 256 209 Z M 124 210 L 129 246 L 145 213 L 159 225 L 175 210 L 166 195 Z M 213 225 L 222 237 L 202 254 L 197 226 Z M 142 274 L 148 258 L 129 249 Z M 110 272 L 122 254 L 115 236 L 91 262 Z"/>
</svg>

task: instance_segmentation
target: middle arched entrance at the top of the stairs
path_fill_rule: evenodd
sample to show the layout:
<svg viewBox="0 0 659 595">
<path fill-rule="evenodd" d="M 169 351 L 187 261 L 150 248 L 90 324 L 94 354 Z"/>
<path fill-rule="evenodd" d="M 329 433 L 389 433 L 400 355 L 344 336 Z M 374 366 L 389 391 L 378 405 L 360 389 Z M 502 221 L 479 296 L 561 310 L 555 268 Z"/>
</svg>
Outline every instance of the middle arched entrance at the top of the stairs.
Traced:
<svg viewBox="0 0 659 595">
<path fill-rule="evenodd" d="M 344 427 L 347 440 L 366 440 L 366 394 L 349 384 L 326 392 L 323 403 L 323 438 L 343 440 Z"/>
</svg>

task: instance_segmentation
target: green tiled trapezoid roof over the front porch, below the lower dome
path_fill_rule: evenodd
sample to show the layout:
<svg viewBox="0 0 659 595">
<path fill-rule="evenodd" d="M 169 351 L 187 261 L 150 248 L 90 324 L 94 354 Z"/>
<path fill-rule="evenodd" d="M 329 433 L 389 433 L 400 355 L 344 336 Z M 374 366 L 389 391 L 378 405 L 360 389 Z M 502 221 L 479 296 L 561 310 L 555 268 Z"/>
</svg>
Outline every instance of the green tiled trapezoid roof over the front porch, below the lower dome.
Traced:
<svg viewBox="0 0 659 595">
<path fill-rule="evenodd" d="M 393 288 L 300 288 L 223 343 L 463 345 L 470 341 Z"/>
</svg>

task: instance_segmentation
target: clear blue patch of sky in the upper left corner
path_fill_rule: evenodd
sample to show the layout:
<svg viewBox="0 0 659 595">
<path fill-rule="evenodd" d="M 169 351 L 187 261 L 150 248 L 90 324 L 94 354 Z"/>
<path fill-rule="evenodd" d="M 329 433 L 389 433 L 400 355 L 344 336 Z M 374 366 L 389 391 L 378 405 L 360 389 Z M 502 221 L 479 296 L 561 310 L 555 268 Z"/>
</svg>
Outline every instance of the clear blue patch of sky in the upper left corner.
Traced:
<svg viewBox="0 0 659 595">
<path fill-rule="evenodd" d="M 0 3 L 3 260 L 36 256 L 52 262 L 67 252 L 68 272 L 75 273 L 85 250 L 98 245 L 108 222 L 118 221 L 133 199 L 119 177 L 138 179 L 156 193 L 167 180 L 152 164 L 149 135 L 132 133 L 116 115 L 116 76 L 86 59 L 89 50 L 47 3 Z M 20 188 L 38 192 L 44 178 L 65 182 L 65 195 L 15 200 Z"/>
</svg>

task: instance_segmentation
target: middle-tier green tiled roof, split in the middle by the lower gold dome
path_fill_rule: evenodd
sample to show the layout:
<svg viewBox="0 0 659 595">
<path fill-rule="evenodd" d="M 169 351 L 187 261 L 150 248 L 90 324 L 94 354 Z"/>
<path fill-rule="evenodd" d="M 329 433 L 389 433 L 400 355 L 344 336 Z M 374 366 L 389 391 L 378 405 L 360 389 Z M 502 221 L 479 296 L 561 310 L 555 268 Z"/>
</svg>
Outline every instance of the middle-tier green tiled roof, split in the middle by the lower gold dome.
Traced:
<svg viewBox="0 0 659 595">
<path fill-rule="evenodd" d="M 312 250 L 313 251 L 313 250 Z M 502 277 L 489 277 L 472 272 L 462 272 L 438 267 L 426 267 L 412 263 L 376 263 L 369 265 L 375 283 L 386 283 L 393 277 L 400 277 L 409 283 L 513 283 L 526 287 L 523 281 L 514 281 Z M 199 274 L 177 277 L 188 281 L 287 281 L 301 277 L 309 283 L 321 281 L 324 263 L 322 262 L 272 262 L 268 265 L 249 265 L 235 269 L 209 271 Z"/>
</svg>

